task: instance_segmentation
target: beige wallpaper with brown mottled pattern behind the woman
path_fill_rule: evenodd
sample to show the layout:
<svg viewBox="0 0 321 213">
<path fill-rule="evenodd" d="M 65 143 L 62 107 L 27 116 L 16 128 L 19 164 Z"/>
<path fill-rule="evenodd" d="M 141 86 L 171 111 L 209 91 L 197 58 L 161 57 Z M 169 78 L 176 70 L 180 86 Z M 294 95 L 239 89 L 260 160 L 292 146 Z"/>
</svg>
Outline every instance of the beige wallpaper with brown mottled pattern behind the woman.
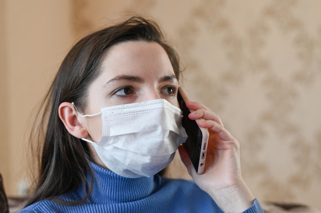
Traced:
<svg viewBox="0 0 321 213">
<path fill-rule="evenodd" d="M 255 197 L 321 209 L 319 0 L 70 0 L 67 6 L 73 39 L 59 57 L 117 17 L 152 16 L 182 57 L 190 99 L 219 114 L 240 141 L 243 176 Z M 176 157 L 167 175 L 189 178 Z"/>
</svg>

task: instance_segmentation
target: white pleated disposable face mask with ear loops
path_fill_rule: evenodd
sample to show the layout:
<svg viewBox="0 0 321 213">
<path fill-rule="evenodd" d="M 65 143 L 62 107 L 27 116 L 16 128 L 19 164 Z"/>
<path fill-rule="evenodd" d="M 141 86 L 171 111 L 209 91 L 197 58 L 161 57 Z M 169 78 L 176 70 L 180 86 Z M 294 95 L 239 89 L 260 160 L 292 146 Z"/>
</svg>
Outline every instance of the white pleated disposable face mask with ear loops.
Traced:
<svg viewBox="0 0 321 213">
<path fill-rule="evenodd" d="M 79 113 L 78 113 L 79 114 Z M 102 139 L 91 143 L 99 158 L 114 173 L 127 177 L 151 177 L 174 158 L 187 135 L 182 111 L 165 99 L 106 107 L 102 115 Z"/>
</svg>

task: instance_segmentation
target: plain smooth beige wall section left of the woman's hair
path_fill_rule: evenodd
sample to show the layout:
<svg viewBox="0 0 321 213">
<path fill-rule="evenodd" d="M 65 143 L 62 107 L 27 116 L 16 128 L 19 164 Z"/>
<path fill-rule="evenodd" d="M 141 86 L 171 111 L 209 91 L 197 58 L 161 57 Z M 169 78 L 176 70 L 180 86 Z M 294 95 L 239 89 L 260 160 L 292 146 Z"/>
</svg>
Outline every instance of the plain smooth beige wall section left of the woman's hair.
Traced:
<svg viewBox="0 0 321 213">
<path fill-rule="evenodd" d="M 28 120 L 72 45 L 70 4 L 1 1 L 1 172 L 9 195 L 22 193 Z M 6 157 L 6 159 L 4 159 Z"/>
</svg>

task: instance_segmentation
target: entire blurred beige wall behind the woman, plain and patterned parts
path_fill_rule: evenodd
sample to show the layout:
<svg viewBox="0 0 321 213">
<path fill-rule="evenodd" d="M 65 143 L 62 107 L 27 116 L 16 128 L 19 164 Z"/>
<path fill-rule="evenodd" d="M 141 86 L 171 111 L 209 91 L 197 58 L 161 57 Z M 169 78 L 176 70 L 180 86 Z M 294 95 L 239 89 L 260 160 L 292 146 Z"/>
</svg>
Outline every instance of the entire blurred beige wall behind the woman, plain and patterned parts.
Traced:
<svg viewBox="0 0 321 213">
<path fill-rule="evenodd" d="M 220 115 L 239 140 L 254 196 L 321 209 L 320 8 L 319 0 L 0 0 L 0 173 L 7 194 L 28 189 L 31 112 L 68 50 L 138 13 L 153 18 L 179 52 L 190 99 Z M 189 178 L 179 157 L 167 175 Z"/>
</svg>

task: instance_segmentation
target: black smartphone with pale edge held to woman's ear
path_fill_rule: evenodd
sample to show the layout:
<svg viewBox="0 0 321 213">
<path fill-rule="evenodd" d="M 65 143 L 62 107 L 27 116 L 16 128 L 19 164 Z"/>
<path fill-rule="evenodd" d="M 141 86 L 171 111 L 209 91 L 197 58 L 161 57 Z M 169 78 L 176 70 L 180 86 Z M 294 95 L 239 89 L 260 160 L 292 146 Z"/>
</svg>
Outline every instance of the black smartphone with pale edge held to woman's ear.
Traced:
<svg viewBox="0 0 321 213">
<path fill-rule="evenodd" d="M 205 167 L 209 132 L 206 128 L 198 126 L 198 120 L 188 118 L 191 111 L 186 107 L 185 100 L 188 99 L 182 88 L 178 89 L 177 99 L 179 107 L 183 111 L 182 125 L 188 136 L 183 145 L 197 175 L 202 175 Z"/>
</svg>

